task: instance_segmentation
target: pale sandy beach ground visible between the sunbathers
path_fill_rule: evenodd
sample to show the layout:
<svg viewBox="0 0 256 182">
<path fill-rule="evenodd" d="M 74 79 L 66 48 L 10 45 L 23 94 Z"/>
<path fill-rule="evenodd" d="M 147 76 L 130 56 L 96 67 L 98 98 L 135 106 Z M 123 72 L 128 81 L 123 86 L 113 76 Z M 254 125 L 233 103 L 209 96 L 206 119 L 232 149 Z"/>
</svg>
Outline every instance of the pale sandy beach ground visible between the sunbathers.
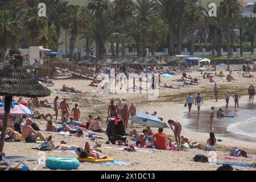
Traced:
<svg viewBox="0 0 256 182">
<path fill-rule="evenodd" d="M 211 72 L 214 73 L 214 72 Z M 226 75 L 228 72 L 224 72 Z M 256 77 L 255 73 L 251 73 L 254 77 Z M 247 96 L 247 88 L 250 84 L 256 85 L 255 78 L 243 78 L 241 73 L 234 72 L 234 81 L 226 82 L 225 79 L 220 77 L 214 77 L 214 81 L 217 82 L 219 88 L 219 99 L 218 102 L 214 102 L 213 95 L 213 87 L 214 82 L 209 82 L 208 79 L 204 79 L 200 72 L 192 72 L 187 73 L 187 75 L 191 75 L 191 77 L 199 78 L 199 85 L 192 85 L 188 88 L 180 88 L 180 89 L 170 89 L 164 88 L 164 84 L 170 84 L 173 86 L 179 86 L 182 82 L 174 81 L 176 79 L 181 78 L 182 75 L 175 75 L 174 78 L 161 78 L 162 82 L 159 86 L 159 97 L 156 100 L 148 100 L 147 94 L 133 94 L 133 93 L 117 93 L 117 94 L 109 94 L 109 93 L 98 93 L 95 90 L 97 88 L 89 86 L 89 80 L 84 80 L 81 78 L 57 78 L 54 81 L 54 86 L 48 87 L 51 89 L 51 96 L 46 97 L 49 102 L 53 102 L 56 96 L 60 97 L 60 101 L 63 98 L 67 98 L 69 102 L 69 106 L 72 107 L 75 104 L 78 104 L 81 111 L 81 122 L 86 122 L 88 119 L 88 115 L 91 114 L 94 117 L 100 115 L 102 117 L 102 126 L 106 129 L 106 117 L 108 116 L 108 105 L 110 100 L 113 98 L 115 103 L 117 103 L 118 98 L 122 98 L 123 102 L 128 106 L 131 105 L 131 102 L 134 102 L 137 107 L 137 114 L 144 113 L 145 111 L 149 111 L 152 113 L 154 110 L 158 111 L 158 116 L 163 118 L 163 121 L 167 123 L 168 119 L 177 119 L 183 125 L 183 130 L 181 131 L 181 135 L 184 135 L 192 140 L 197 140 L 204 146 L 206 145 L 206 141 L 209 138 L 208 133 L 199 133 L 195 131 L 191 131 L 185 127 L 188 124 L 189 119 L 187 114 L 187 107 L 184 107 L 185 98 L 188 93 L 192 93 L 193 96 L 196 96 L 197 92 L 201 93 L 201 96 L 204 99 L 204 105 L 201 106 L 201 110 L 209 110 L 211 106 L 215 106 L 216 108 L 222 107 L 225 108 L 225 96 L 224 93 L 226 90 L 230 91 L 230 96 L 233 96 L 235 92 L 238 92 L 242 96 L 240 103 L 248 102 Z M 75 94 L 75 93 L 64 93 L 59 92 L 56 89 L 61 89 L 63 84 L 74 87 L 82 90 L 85 93 Z M 139 86 L 140 82 L 137 81 L 136 84 Z M 94 90 L 94 91 L 92 91 Z M 17 100 L 17 98 L 14 98 Z M 24 101 L 28 101 L 29 98 L 23 98 Z M 230 98 L 230 100 L 232 100 Z M 256 101 L 254 101 L 256 105 Z M 230 101 L 230 110 L 234 110 L 233 100 Z M 40 113 L 51 113 L 54 114 L 53 109 L 43 108 L 39 110 Z M 192 108 L 191 117 L 196 117 L 197 110 L 196 106 Z M 59 114 L 59 119 L 61 115 Z M 53 120 L 55 122 L 55 120 Z M 55 146 L 60 143 L 61 140 L 65 140 L 68 144 L 75 144 L 76 146 L 83 147 L 85 142 L 88 141 L 91 146 L 94 146 L 95 142 L 86 138 L 77 138 L 77 137 L 64 137 L 63 135 L 59 135 L 57 133 L 51 133 L 45 131 L 46 129 L 46 121 L 43 119 L 40 121 L 36 121 L 38 123 L 40 129 L 43 130 L 44 135 L 52 135 L 53 140 L 55 141 Z M 213 124 L 214 125 L 214 124 Z M 59 126 L 56 124 L 56 126 Z M 130 125 L 129 121 L 129 131 L 136 129 L 138 132 L 144 129 L 144 126 L 140 125 Z M 157 128 L 152 128 L 152 131 L 156 132 Z M 213 130 L 214 132 L 214 130 Z M 174 133 L 170 128 L 164 128 L 164 133 L 174 139 Z M 241 140 L 238 138 L 230 138 L 223 137 L 221 133 L 215 133 L 216 138 L 221 138 L 222 142 L 217 142 L 217 156 L 225 157 L 230 156 L 229 151 L 232 146 L 239 146 L 247 151 L 248 155 L 256 156 L 256 142 L 247 142 L 245 140 Z M 142 148 L 144 152 L 127 152 L 121 150 L 112 150 L 108 147 L 118 147 L 112 144 L 105 144 L 108 140 L 108 137 L 104 133 L 97 133 L 97 136 L 102 137 L 103 139 L 98 139 L 101 142 L 100 150 L 102 150 L 102 155 L 110 156 L 115 160 L 130 163 L 130 166 L 114 166 L 114 165 L 102 165 L 102 164 L 80 164 L 78 170 L 216 170 L 220 165 L 213 165 L 209 163 L 196 163 L 193 162 L 192 158 L 196 154 L 203 154 L 208 156 L 207 151 L 203 150 L 191 150 L 187 149 L 184 151 L 166 151 L 166 150 L 156 150 L 155 153 L 152 152 L 151 149 Z M 128 139 L 130 139 L 128 137 Z M 6 155 L 23 155 L 23 156 L 37 156 L 38 151 L 32 148 L 38 147 L 38 143 L 23 143 L 23 142 L 14 142 L 14 143 L 5 143 L 4 152 Z M 107 147 L 107 148 L 106 148 Z M 146 152 L 145 152 L 146 151 Z M 76 154 L 59 154 L 54 151 L 47 151 L 46 156 L 55 156 L 55 157 L 64 157 L 64 158 L 76 158 Z M 217 159 L 218 162 L 226 162 L 226 163 L 242 163 L 242 164 L 252 164 L 256 162 L 256 159 L 249 159 L 238 157 L 238 160 L 229 160 L 229 159 Z M 35 167 L 35 163 L 28 163 L 29 166 Z M 256 168 L 250 167 L 239 167 L 233 166 L 236 169 L 240 170 L 254 170 Z M 40 166 L 39 170 L 50 170 L 45 166 Z"/>
</svg>

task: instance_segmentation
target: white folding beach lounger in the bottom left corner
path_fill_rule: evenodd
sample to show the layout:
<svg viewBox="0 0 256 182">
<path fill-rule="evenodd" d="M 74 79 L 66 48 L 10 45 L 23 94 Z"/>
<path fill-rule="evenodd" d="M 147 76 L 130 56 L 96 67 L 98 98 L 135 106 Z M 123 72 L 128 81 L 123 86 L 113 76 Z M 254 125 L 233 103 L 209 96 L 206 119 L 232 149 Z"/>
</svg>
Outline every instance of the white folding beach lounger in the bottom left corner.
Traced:
<svg viewBox="0 0 256 182">
<path fill-rule="evenodd" d="M 20 164 L 27 166 L 26 161 L 36 161 L 36 167 L 33 169 L 34 171 L 38 169 L 40 165 L 40 160 L 38 158 L 28 158 L 24 156 L 3 156 L 0 154 L 0 166 L 7 164 L 7 168 L 5 169 L 5 171 L 9 171 L 14 163 L 18 163 L 18 165 L 14 167 L 15 169 L 18 168 Z"/>
</svg>

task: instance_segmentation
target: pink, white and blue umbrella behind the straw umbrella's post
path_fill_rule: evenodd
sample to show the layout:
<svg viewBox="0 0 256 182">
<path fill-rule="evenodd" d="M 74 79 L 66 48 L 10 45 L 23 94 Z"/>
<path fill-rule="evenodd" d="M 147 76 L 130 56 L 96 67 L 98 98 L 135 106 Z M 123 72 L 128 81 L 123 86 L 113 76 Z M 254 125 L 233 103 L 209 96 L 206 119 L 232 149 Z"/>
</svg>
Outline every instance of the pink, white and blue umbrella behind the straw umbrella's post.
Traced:
<svg viewBox="0 0 256 182">
<path fill-rule="evenodd" d="M 5 109 L 4 109 L 5 103 L 0 102 L 0 115 L 5 115 Z M 11 102 L 11 110 L 9 115 L 30 115 L 31 117 L 34 118 L 34 113 L 32 110 L 28 109 L 28 107 L 16 103 L 16 102 Z"/>
</svg>

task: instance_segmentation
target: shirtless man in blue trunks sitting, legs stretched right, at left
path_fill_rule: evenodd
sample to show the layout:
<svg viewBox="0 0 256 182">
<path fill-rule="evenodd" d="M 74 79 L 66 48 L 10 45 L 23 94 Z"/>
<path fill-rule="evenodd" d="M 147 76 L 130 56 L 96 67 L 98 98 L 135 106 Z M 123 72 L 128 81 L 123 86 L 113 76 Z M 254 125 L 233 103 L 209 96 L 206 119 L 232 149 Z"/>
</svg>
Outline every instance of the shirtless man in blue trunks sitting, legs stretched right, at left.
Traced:
<svg viewBox="0 0 256 182">
<path fill-rule="evenodd" d="M 27 143 L 34 143 L 36 142 L 37 138 L 40 138 L 44 142 L 52 142 L 52 136 L 49 136 L 48 138 L 44 138 L 43 134 L 40 131 L 35 131 L 31 127 L 32 125 L 32 119 L 28 118 L 26 121 L 26 125 L 22 127 L 22 137 L 25 139 Z"/>
</svg>

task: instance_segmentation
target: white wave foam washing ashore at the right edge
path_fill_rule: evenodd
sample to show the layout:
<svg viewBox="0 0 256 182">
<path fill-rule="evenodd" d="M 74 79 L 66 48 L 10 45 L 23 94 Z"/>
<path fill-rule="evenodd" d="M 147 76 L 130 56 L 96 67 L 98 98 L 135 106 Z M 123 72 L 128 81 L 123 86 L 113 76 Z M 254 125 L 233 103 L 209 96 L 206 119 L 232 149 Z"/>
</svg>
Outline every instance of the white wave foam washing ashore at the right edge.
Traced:
<svg viewBox="0 0 256 182">
<path fill-rule="evenodd" d="M 256 117 L 229 125 L 227 131 L 256 138 Z"/>
</svg>

